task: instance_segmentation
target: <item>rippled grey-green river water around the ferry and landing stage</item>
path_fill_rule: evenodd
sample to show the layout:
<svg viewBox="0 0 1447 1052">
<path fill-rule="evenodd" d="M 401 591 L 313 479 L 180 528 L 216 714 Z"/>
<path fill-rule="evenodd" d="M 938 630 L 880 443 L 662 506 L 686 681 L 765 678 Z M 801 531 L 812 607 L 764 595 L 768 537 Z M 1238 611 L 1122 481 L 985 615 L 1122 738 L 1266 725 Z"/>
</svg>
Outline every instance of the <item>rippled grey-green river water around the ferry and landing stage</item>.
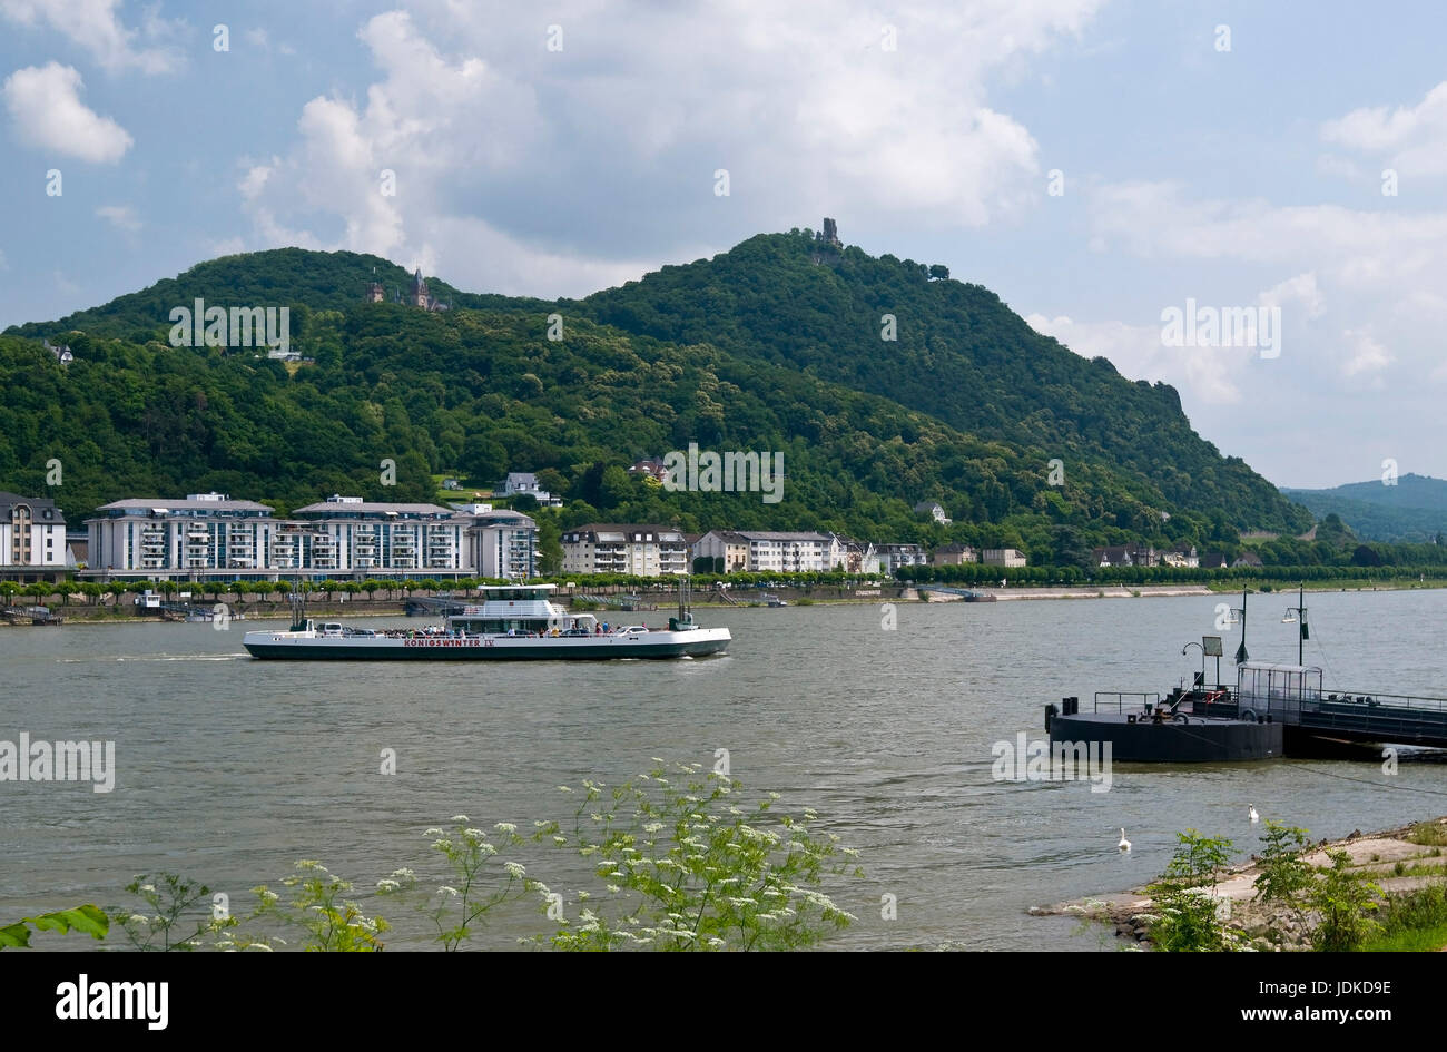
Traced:
<svg viewBox="0 0 1447 1052">
<path fill-rule="evenodd" d="M 706 609 L 703 624 L 732 629 L 731 654 L 670 663 L 260 663 L 240 647 L 252 622 L 4 629 L 0 739 L 113 739 L 117 774 L 110 793 L 0 783 L 0 919 L 120 904 L 143 871 L 207 881 L 233 909 L 300 858 L 372 887 L 401 865 L 421 871 L 423 831 L 454 813 L 531 828 L 570 813 L 559 784 L 618 783 L 651 757 L 710 767 L 721 748 L 750 792 L 815 807 L 816 832 L 861 851 L 865 877 L 835 888 L 860 917 L 841 948 L 1110 948 L 1026 910 L 1149 880 L 1187 828 L 1255 848 L 1252 805 L 1317 838 L 1447 813 L 1443 764 L 1117 764 L 1101 793 L 991 777 L 991 745 L 1043 737 L 1046 702 L 1165 693 L 1198 670 L 1181 647 L 1215 632 L 1223 601 L 1239 596 L 901 603 L 894 629 L 877 605 Z M 1253 658 L 1295 661 L 1297 627 L 1281 622 L 1295 602 L 1250 598 Z M 1447 590 L 1307 602 L 1307 661 L 1328 687 L 1447 695 Z M 394 622 L 368 619 L 382 624 Z M 1239 632 L 1224 632 L 1227 656 Z M 396 751 L 395 774 L 381 773 L 382 750 Z M 561 855 L 519 858 L 544 880 L 566 875 L 550 868 Z M 881 917 L 884 894 L 897 919 Z M 366 904 L 396 923 L 389 948 L 428 945 L 396 903 Z M 476 945 L 544 928 L 512 910 Z"/>
</svg>

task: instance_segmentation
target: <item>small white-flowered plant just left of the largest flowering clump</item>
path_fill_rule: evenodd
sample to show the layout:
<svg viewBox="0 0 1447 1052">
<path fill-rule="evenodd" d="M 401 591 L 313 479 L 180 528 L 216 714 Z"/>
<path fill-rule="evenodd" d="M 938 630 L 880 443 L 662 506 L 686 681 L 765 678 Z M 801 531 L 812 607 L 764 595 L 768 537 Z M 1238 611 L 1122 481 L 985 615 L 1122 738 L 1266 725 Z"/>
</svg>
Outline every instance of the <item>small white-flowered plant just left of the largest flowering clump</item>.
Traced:
<svg viewBox="0 0 1447 1052">
<path fill-rule="evenodd" d="M 508 899 L 518 899 L 527 888 L 527 870 L 521 862 L 498 862 L 498 848 L 488 832 L 469 823 L 466 815 L 451 816 L 453 829 L 431 828 L 424 836 L 433 838 L 433 849 L 447 860 L 447 881 L 421 904 L 423 913 L 437 929 L 437 941 L 451 952 L 472 938 L 473 926 L 486 920 L 488 910 Z M 493 832 L 506 845 L 521 845 L 518 828 L 511 822 L 498 822 Z M 495 868 L 499 873 L 488 873 Z M 502 877 L 501 886 L 495 878 Z M 378 894 L 405 894 L 417 887 L 412 870 L 395 870 L 391 877 L 379 880 Z"/>
</svg>

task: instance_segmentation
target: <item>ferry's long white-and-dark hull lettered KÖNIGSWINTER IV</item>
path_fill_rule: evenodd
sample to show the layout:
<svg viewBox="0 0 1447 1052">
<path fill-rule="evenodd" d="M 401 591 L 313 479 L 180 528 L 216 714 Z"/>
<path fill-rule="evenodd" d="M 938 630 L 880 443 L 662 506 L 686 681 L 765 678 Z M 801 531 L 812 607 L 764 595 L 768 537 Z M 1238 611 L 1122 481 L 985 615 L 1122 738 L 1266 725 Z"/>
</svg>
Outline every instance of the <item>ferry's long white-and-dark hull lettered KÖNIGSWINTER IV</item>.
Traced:
<svg viewBox="0 0 1447 1052">
<path fill-rule="evenodd" d="M 247 632 L 246 650 L 272 661 L 615 661 L 619 658 L 706 657 L 722 654 L 726 628 L 586 638 L 346 638 L 292 632 Z"/>
</svg>

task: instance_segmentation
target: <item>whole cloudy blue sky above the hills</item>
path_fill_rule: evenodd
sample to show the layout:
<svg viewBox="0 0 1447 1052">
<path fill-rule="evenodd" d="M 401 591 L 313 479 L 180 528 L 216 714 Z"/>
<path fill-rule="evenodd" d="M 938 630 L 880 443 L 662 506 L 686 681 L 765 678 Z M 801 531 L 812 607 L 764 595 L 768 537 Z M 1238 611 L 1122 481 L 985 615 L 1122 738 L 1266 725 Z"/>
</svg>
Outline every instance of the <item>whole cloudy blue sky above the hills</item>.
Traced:
<svg viewBox="0 0 1447 1052">
<path fill-rule="evenodd" d="M 580 297 L 831 216 L 1278 485 L 1447 476 L 1444 35 L 1427 0 L 0 0 L 0 327 L 289 245 Z"/>
</svg>

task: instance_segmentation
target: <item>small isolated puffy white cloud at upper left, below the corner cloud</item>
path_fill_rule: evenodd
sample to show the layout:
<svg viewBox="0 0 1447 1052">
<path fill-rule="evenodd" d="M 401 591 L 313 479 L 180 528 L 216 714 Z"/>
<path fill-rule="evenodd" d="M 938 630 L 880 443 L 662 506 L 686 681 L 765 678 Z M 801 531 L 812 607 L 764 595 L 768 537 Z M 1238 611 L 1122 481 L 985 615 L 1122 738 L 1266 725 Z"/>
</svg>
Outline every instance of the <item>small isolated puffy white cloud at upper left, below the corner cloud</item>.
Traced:
<svg viewBox="0 0 1447 1052">
<path fill-rule="evenodd" d="M 0 93 L 22 142 L 93 164 L 114 164 L 133 140 L 81 101 L 82 87 L 80 72 L 51 62 L 16 69 Z"/>
</svg>

